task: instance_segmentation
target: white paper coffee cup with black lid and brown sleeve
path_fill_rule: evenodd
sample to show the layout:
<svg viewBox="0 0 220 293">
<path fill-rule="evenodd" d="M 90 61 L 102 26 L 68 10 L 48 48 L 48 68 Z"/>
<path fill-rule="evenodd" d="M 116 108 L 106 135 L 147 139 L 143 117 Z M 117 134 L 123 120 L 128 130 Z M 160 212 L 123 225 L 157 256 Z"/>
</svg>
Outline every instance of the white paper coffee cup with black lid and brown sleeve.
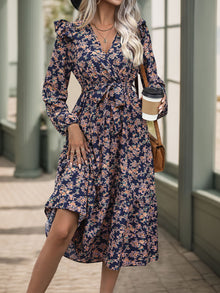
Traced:
<svg viewBox="0 0 220 293">
<path fill-rule="evenodd" d="M 142 118 L 148 121 L 157 120 L 158 106 L 164 96 L 163 89 L 145 87 L 142 95 Z"/>
</svg>

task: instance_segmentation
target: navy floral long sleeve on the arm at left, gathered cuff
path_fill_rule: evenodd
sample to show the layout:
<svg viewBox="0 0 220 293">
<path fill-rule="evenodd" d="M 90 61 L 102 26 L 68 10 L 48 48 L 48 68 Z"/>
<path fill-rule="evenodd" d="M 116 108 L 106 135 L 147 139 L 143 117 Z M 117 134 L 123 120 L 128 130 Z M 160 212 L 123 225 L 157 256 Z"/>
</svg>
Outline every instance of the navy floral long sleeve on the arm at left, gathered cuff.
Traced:
<svg viewBox="0 0 220 293">
<path fill-rule="evenodd" d="M 55 22 L 56 31 L 64 21 Z M 71 73 L 71 63 L 68 60 L 68 46 L 65 35 L 59 29 L 54 43 L 52 56 L 43 84 L 43 101 L 51 122 L 61 135 L 66 135 L 68 126 L 78 123 L 75 113 L 70 113 L 66 100 L 68 83 Z"/>
</svg>

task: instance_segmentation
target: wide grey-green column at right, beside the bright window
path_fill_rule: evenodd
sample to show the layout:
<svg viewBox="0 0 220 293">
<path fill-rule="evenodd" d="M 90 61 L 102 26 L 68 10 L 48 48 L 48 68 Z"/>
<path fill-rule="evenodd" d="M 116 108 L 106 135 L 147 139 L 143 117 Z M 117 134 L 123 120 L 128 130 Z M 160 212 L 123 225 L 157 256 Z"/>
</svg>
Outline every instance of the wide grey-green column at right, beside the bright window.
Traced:
<svg viewBox="0 0 220 293">
<path fill-rule="evenodd" d="M 192 191 L 213 187 L 216 9 L 216 0 L 182 0 L 181 5 L 179 240 L 190 250 Z"/>
</svg>

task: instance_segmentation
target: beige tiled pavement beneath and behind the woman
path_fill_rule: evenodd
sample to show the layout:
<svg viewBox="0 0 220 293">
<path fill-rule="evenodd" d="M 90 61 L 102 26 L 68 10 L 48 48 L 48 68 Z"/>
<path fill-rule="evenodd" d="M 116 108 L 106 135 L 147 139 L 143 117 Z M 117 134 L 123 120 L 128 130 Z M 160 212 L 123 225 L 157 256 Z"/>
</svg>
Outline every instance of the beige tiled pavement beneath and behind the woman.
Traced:
<svg viewBox="0 0 220 293">
<path fill-rule="evenodd" d="M 38 179 L 13 177 L 14 164 L 0 157 L 0 292 L 25 293 L 36 257 L 44 243 L 43 205 L 54 174 Z M 159 227 L 157 262 L 123 267 L 116 293 L 220 292 L 220 278 Z M 101 263 L 82 264 L 65 257 L 48 293 L 99 293 Z"/>
</svg>

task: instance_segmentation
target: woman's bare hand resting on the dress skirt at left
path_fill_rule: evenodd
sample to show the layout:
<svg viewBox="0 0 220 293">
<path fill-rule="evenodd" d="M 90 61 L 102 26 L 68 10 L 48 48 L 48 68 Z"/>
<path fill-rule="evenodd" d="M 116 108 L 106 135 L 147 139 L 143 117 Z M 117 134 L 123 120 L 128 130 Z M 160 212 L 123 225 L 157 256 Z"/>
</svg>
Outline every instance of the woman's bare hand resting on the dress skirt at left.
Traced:
<svg viewBox="0 0 220 293">
<path fill-rule="evenodd" d="M 86 164 L 88 163 L 86 158 L 86 151 L 89 151 L 89 147 L 85 136 L 79 127 L 79 124 L 73 123 L 68 126 L 68 136 L 69 144 L 67 150 L 67 159 L 70 160 L 69 166 L 72 167 L 73 157 L 76 153 L 77 163 L 79 168 L 81 169 L 82 158 L 84 159 Z"/>
</svg>

